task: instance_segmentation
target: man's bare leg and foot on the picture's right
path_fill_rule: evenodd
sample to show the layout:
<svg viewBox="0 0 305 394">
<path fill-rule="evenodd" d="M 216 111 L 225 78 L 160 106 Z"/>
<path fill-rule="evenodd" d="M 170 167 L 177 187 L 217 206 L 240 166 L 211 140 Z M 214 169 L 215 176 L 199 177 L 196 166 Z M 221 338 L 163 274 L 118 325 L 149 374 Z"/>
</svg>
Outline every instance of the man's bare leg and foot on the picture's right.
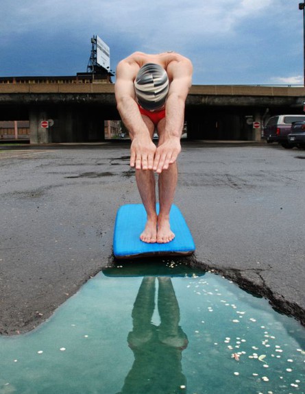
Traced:
<svg viewBox="0 0 305 394">
<path fill-rule="evenodd" d="M 164 141 L 165 119 L 158 123 L 159 145 Z M 157 242 L 169 243 L 175 238 L 175 234 L 171 231 L 169 225 L 169 211 L 173 204 L 175 196 L 175 188 L 178 181 L 177 163 L 169 164 L 167 170 L 163 170 L 159 175 L 159 204 L 160 212 L 158 215 Z"/>
</svg>

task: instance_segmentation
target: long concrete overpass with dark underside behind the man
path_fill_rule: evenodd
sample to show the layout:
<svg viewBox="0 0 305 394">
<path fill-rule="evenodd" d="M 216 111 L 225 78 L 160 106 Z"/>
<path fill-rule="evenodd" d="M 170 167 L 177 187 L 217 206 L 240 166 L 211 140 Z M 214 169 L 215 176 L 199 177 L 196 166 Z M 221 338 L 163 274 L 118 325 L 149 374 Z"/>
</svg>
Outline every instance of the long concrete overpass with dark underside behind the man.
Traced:
<svg viewBox="0 0 305 394">
<path fill-rule="evenodd" d="M 27 120 L 31 143 L 104 139 L 103 121 L 119 119 L 114 84 L 75 77 L 0 78 L 0 120 Z M 291 86 L 194 85 L 186 100 L 189 139 L 260 140 L 272 114 L 303 113 L 305 88 Z M 53 119 L 49 129 L 40 127 Z"/>
</svg>

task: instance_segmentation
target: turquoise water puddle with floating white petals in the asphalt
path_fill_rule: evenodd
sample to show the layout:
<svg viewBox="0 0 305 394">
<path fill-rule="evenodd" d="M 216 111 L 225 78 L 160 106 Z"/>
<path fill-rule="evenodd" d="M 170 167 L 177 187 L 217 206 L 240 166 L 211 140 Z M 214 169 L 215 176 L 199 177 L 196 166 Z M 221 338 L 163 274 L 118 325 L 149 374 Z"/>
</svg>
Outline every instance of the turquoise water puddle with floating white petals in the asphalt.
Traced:
<svg viewBox="0 0 305 394">
<path fill-rule="evenodd" d="M 38 329 L 0 337 L 0 393 L 305 392 L 299 323 L 220 276 L 164 264 L 106 269 Z"/>
</svg>

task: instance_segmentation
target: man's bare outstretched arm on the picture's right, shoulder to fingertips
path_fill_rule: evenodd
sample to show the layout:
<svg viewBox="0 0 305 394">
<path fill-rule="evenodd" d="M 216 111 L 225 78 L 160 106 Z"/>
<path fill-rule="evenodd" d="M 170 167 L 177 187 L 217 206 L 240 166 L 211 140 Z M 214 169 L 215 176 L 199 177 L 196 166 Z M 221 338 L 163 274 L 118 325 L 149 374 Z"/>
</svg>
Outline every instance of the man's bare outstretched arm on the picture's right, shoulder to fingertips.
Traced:
<svg viewBox="0 0 305 394">
<path fill-rule="evenodd" d="M 180 137 L 184 125 L 184 108 L 188 90 L 192 84 L 193 67 L 191 61 L 182 58 L 167 66 L 172 79 L 166 103 L 166 125 L 164 142 L 158 147 L 154 160 L 154 170 L 158 173 L 169 168 L 181 151 Z"/>
</svg>

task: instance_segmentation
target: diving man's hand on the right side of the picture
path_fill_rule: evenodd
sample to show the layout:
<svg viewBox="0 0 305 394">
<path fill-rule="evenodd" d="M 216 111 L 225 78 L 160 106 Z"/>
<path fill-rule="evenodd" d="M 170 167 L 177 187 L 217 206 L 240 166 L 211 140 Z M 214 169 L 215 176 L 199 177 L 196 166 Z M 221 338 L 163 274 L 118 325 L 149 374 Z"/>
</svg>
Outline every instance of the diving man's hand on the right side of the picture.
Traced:
<svg viewBox="0 0 305 394">
<path fill-rule="evenodd" d="M 158 146 L 154 158 L 153 169 L 160 174 L 163 170 L 169 168 L 169 164 L 173 164 L 181 151 L 180 138 L 171 137 Z"/>
</svg>

